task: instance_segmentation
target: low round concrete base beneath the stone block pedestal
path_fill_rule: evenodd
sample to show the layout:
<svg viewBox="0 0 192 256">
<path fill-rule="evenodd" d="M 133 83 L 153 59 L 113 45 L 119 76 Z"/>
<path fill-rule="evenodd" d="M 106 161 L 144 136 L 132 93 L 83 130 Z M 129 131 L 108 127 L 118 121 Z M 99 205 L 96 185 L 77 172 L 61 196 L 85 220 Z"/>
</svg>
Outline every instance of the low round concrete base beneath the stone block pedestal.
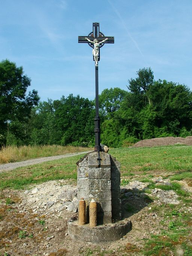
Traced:
<svg viewBox="0 0 192 256">
<path fill-rule="evenodd" d="M 68 221 L 68 234 L 73 240 L 102 243 L 116 241 L 130 230 L 130 220 L 90 227 L 89 224 L 79 226 L 78 221 Z"/>
</svg>

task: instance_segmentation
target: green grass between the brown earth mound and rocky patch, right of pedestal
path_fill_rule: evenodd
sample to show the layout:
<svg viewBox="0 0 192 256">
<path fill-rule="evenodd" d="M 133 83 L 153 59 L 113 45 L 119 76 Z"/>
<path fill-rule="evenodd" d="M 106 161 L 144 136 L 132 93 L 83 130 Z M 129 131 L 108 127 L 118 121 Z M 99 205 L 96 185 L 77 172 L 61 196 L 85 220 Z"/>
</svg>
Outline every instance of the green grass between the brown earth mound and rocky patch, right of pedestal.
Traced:
<svg viewBox="0 0 192 256">
<path fill-rule="evenodd" d="M 151 148 L 111 149 L 110 154 L 121 163 L 121 176 L 156 170 L 178 172 L 192 170 L 192 146 L 173 145 Z"/>
</svg>

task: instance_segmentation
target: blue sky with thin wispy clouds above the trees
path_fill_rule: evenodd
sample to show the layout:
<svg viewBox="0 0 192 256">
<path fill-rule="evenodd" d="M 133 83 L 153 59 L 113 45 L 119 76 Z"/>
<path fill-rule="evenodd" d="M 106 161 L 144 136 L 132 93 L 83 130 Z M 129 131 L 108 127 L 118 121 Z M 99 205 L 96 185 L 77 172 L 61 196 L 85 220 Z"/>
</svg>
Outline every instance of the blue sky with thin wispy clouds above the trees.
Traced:
<svg viewBox="0 0 192 256">
<path fill-rule="evenodd" d="M 192 90 L 191 0 L 0 0 L 0 17 L 0 60 L 23 66 L 42 101 L 95 97 L 92 48 L 78 44 L 93 22 L 115 38 L 101 48 L 99 93 L 127 90 L 144 67 Z"/>
</svg>

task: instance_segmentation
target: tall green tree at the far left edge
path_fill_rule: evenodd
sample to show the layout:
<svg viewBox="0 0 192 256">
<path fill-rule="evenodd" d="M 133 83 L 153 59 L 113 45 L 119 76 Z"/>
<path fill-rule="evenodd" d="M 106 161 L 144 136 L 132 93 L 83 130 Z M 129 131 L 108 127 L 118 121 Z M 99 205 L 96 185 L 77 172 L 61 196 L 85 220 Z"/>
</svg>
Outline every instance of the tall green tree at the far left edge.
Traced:
<svg viewBox="0 0 192 256">
<path fill-rule="evenodd" d="M 25 133 L 25 129 L 20 130 L 21 124 L 28 122 L 31 109 L 39 101 L 36 90 L 26 93 L 30 81 L 23 67 L 7 59 L 0 62 L 0 130 L 5 137 L 7 133 L 16 137 Z"/>
</svg>

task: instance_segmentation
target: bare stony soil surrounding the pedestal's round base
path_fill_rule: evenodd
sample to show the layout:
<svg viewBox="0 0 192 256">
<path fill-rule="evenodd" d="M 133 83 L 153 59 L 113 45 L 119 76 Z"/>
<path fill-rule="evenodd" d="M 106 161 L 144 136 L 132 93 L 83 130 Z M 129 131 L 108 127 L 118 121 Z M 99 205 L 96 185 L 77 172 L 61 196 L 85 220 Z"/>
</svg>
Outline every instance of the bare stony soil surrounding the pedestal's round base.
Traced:
<svg viewBox="0 0 192 256">
<path fill-rule="evenodd" d="M 168 228 L 169 219 L 163 220 L 163 214 L 158 215 L 153 211 L 153 207 L 164 203 L 156 194 L 145 193 L 148 183 L 136 178 L 121 188 L 123 218 L 131 220 L 132 229 L 119 241 L 100 245 L 75 242 L 68 236 L 67 222 L 70 218 L 77 218 L 77 212 L 73 212 L 72 208 L 68 211 L 69 205 L 76 198 L 77 184 L 73 181 L 49 181 L 26 191 L 2 191 L 0 255 L 144 255 L 142 249 L 145 239 L 150 238 L 151 234 L 163 238 L 160 235 L 160 223 L 166 221 Z M 154 180 L 161 178 L 162 176 Z M 186 182 L 181 183 L 185 189 L 189 188 Z M 10 199 L 10 205 L 6 205 L 7 198 Z M 185 209 L 182 205 L 183 210 L 192 212 L 192 207 Z M 163 248 L 163 253 L 165 254 L 158 255 L 177 255 L 170 254 L 166 248 Z"/>
</svg>

